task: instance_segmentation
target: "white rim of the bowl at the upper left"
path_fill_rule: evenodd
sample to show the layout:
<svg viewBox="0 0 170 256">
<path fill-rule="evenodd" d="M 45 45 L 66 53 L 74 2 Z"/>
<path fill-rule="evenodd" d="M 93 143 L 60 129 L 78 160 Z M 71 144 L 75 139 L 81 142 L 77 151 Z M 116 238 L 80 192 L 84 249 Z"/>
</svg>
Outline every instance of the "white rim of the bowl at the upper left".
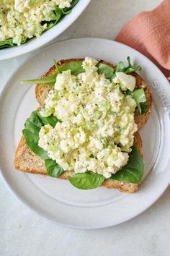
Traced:
<svg viewBox="0 0 170 256">
<path fill-rule="evenodd" d="M 30 51 L 34 51 L 40 46 L 44 46 L 46 43 L 53 40 L 58 35 L 60 35 L 64 30 L 66 30 L 84 11 L 84 9 L 89 4 L 90 0 L 79 0 L 75 7 L 73 7 L 70 14 L 63 17 L 61 22 L 58 22 L 55 27 L 52 27 L 50 30 L 42 33 L 40 38 L 32 38 L 27 43 L 24 43 L 22 46 L 16 46 L 12 48 L 4 48 L 0 50 L 0 61 L 3 59 L 10 59 L 16 56 L 27 54 Z"/>
</svg>

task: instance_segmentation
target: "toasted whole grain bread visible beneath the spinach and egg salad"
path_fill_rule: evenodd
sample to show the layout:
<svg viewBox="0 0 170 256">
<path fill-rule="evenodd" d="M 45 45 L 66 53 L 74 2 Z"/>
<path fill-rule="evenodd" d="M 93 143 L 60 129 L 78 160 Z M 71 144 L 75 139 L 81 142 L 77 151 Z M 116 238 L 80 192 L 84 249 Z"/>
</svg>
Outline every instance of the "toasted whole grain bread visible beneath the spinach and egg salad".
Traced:
<svg viewBox="0 0 170 256">
<path fill-rule="evenodd" d="M 71 61 L 78 61 L 83 59 L 68 59 L 68 60 L 61 60 L 58 61 L 58 66 L 61 67 L 63 64 L 66 64 Z M 115 67 L 112 64 L 109 64 L 107 61 L 100 61 L 102 63 L 108 64 L 111 67 Z M 43 77 L 47 77 L 50 74 L 53 74 L 56 72 L 55 66 L 51 67 L 48 72 L 45 73 Z M 136 77 L 136 87 L 146 87 L 146 98 L 147 98 L 147 104 L 149 106 L 148 111 L 145 115 L 141 116 L 138 111 L 135 113 L 135 120 L 137 120 L 138 129 L 143 127 L 143 125 L 146 123 L 148 116 L 150 114 L 151 109 L 151 90 L 149 89 L 146 82 L 136 73 L 133 74 Z M 37 84 L 35 88 L 35 96 L 37 98 L 37 101 L 40 103 L 40 106 L 42 107 L 45 101 L 45 98 L 48 96 L 48 92 L 52 90 L 51 86 L 44 85 L 44 84 Z M 140 137 L 139 132 L 135 132 L 135 146 L 138 148 L 141 155 L 143 155 L 143 148 L 142 148 L 142 140 Z M 17 152 L 14 160 L 14 166 L 19 171 L 26 171 L 33 174 L 43 174 L 46 175 L 47 171 L 45 169 L 44 161 L 35 153 L 28 148 L 24 137 L 22 136 L 19 145 L 17 147 Z M 68 179 L 68 176 L 71 176 L 71 171 L 66 171 L 64 174 L 62 174 L 59 179 Z M 120 182 L 115 181 L 111 179 L 107 179 L 103 182 L 102 186 L 108 187 L 108 188 L 117 188 L 120 189 L 122 192 L 128 192 L 133 193 L 138 190 L 138 184 L 133 184 L 130 182 Z"/>
</svg>

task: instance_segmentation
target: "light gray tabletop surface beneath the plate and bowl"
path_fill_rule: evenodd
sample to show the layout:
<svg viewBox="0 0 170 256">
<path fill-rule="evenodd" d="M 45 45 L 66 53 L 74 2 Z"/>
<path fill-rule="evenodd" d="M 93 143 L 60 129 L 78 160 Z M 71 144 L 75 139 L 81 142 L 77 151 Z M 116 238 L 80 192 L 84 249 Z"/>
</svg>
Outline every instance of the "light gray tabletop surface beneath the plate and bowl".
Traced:
<svg viewBox="0 0 170 256">
<path fill-rule="evenodd" d="M 160 0 L 92 0 L 58 39 L 95 36 L 114 39 L 130 17 Z M 27 54 L 29 56 L 29 54 Z M 1 88 L 27 56 L 0 61 Z M 56 226 L 22 205 L 0 181 L 0 255 L 169 256 L 170 187 L 145 213 L 109 229 L 79 231 Z"/>
</svg>

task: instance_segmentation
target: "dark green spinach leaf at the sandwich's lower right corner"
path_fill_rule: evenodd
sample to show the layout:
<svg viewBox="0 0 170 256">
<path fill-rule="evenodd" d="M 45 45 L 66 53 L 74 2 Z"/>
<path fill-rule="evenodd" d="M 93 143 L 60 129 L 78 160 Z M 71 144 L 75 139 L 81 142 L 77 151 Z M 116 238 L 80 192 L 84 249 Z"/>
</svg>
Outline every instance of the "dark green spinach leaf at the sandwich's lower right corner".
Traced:
<svg viewBox="0 0 170 256">
<path fill-rule="evenodd" d="M 129 153 L 128 163 L 122 167 L 116 174 L 112 174 L 111 178 L 118 181 L 127 181 L 132 183 L 140 182 L 143 176 L 143 158 L 135 146 Z"/>
</svg>

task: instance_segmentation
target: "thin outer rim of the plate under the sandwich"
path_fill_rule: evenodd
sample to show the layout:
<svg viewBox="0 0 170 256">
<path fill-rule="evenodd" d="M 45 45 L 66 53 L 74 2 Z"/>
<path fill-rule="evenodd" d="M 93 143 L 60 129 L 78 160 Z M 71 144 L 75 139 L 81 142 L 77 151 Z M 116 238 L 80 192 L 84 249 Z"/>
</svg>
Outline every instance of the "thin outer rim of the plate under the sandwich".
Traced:
<svg viewBox="0 0 170 256">
<path fill-rule="evenodd" d="M 109 40 L 109 39 L 104 39 L 104 38 L 70 38 L 70 39 L 66 39 L 66 40 L 108 40 L 110 42 L 113 42 L 113 40 Z M 22 61 L 19 66 L 17 67 L 17 69 L 12 72 L 12 75 L 9 77 L 8 80 L 6 80 L 6 82 L 4 83 L 4 88 L 3 90 L 1 90 L 1 93 L 0 93 L 0 101 L 1 101 L 1 98 L 3 97 L 4 93 L 6 93 L 6 90 L 8 89 L 8 84 L 11 82 L 12 80 L 12 77 L 14 75 L 16 75 L 18 72 L 19 72 L 19 69 L 22 67 L 23 64 L 26 64 L 27 61 L 29 61 L 30 59 L 32 59 L 33 57 L 35 57 L 37 54 L 40 54 L 41 51 L 44 50 L 44 48 L 50 48 L 50 46 L 53 46 L 54 44 L 57 44 L 57 43 L 61 43 L 63 41 L 66 41 L 66 40 L 60 40 L 58 42 L 55 42 L 55 43 L 50 43 L 50 45 L 48 46 L 44 46 L 43 48 L 39 49 L 39 51 L 36 51 L 35 54 L 32 54 L 31 56 L 29 56 L 27 59 L 25 59 L 24 61 Z M 114 43 L 117 43 L 119 45 L 122 45 L 122 46 L 125 46 L 124 44 L 122 43 L 119 43 L 119 42 L 116 42 L 114 41 Z M 126 46 L 126 48 L 130 48 L 129 46 Z M 130 49 L 133 49 L 133 48 L 130 48 Z M 134 52 L 136 52 L 137 54 L 140 54 L 138 51 L 136 51 L 135 49 L 133 49 Z M 147 61 L 150 61 L 150 63 L 157 69 L 158 72 L 161 72 L 160 69 L 158 69 L 158 67 L 156 67 L 156 64 L 154 64 L 151 60 L 149 60 L 146 56 L 144 56 L 143 54 L 140 54 L 142 57 L 146 58 Z M 163 75 L 164 79 L 166 79 L 165 75 L 161 72 L 161 74 Z M 169 82 L 167 79 L 166 79 L 167 82 Z M 60 226 L 66 226 L 66 227 L 70 227 L 70 228 L 73 228 L 73 229 L 103 229 L 103 228 L 107 228 L 109 226 L 115 226 L 119 223 L 123 223 L 123 222 L 126 222 L 126 221 L 129 221 L 131 218 L 135 218 L 136 216 L 140 215 L 140 213 L 143 213 L 145 210 L 147 210 L 149 207 L 151 207 L 151 205 L 153 205 L 156 200 L 158 200 L 159 197 L 161 197 L 161 195 L 164 193 L 164 191 L 166 190 L 167 187 L 169 187 L 169 184 L 170 184 L 170 179 L 169 181 L 167 181 L 167 183 L 165 184 L 165 186 L 162 186 L 162 189 L 161 189 L 161 193 L 156 196 L 154 198 L 154 200 L 152 200 L 152 202 L 150 202 L 146 208 L 143 208 L 143 210 L 140 210 L 139 213 L 135 213 L 134 215 L 130 216 L 129 218 L 126 218 L 125 221 L 117 221 L 117 223 L 115 224 L 109 224 L 109 225 L 98 225 L 98 226 L 89 226 L 89 227 L 84 227 L 84 226 L 73 226 L 73 225 L 68 225 L 68 224 L 65 224 L 65 223 L 61 223 L 61 222 L 58 222 L 58 221 L 54 221 L 53 219 L 49 218 L 48 216 L 46 216 L 45 213 L 43 213 L 41 210 L 38 210 L 37 208 L 33 208 L 32 205 L 30 205 L 29 202 L 27 202 L 27 200 L 24 200 L 22 197 L 20 197 L 19 193 L 17 191 L 15 191 L 11 184 L 8 183 L 7 179 L 5 178 L 4 174 L 3 174 L 3 171 L 1 170 L 1 167 L 0 167 L 0 176 L 2 178 L 2 180 L 4 181 L 4 183 L 6 184 L 6 186 L 12 191 L 12 193 L 22 202 L 24 203 L 24 205 L 27 205 L 28 208 L 34 210 L 35 213 L 38 213 L 40 214 L 40 216 L 43 216 L 44 218 L 47 218 L 48 220 L 50 221 L 53 221 L 53 223 L 55 224 L 58 224 Z M 170 176 L 169 176 L 170 177 Z"/>
</svg>

